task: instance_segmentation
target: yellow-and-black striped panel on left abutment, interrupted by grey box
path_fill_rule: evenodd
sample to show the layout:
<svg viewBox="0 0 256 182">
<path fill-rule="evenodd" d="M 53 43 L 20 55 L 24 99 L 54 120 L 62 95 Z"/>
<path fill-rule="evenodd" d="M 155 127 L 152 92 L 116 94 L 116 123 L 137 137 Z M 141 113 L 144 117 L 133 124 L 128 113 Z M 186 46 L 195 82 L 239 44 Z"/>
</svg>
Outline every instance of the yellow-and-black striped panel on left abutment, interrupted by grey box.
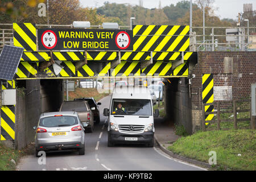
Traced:
<svg viewBox="0 0 256 182">
<path fill-rule="evenodd" d="M 2 90 L 15 89 L 15 81 L 2 83 Z M 1 137 L 0 140 L 15 139 L 15 105 L 1 107 Z"/>
</svg>

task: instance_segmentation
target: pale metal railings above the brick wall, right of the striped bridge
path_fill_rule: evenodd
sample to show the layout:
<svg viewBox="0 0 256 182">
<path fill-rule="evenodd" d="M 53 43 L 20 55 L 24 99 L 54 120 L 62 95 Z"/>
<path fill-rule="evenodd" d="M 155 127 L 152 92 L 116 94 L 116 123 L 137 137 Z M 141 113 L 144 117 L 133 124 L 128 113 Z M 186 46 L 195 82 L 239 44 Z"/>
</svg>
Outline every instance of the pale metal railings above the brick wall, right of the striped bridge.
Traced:
<svg viewBox="0 0 256 182">
<path fill-rule="evenodd" d="M 256 27 L 192 27 L 190 51 L 256 51 Z"/>
</svg>

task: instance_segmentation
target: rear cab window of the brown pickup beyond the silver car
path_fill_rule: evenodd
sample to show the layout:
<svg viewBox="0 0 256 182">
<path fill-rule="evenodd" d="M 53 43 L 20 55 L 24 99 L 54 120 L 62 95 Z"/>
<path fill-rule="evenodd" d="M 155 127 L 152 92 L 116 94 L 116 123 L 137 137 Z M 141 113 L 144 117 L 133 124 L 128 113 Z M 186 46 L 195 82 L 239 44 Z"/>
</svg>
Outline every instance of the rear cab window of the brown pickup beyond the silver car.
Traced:
<svg viewBox="0 0 256 182">
<path fill-rule="evenodd" d="M 60 111 L 76 111 L 83 112 L 88 111 L 84 101 L 77 102 L 63 102 Z"/>
</svg>

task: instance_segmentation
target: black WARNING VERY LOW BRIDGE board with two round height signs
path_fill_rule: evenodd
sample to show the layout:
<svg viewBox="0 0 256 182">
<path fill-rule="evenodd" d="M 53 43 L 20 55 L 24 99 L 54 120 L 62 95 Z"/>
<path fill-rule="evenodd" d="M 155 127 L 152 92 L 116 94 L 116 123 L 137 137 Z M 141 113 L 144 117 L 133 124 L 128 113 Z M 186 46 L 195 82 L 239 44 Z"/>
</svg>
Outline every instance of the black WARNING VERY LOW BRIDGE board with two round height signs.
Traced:
<svg viewBox="0 0 256 182">
<path fill-rule="evenodd" d="M 133 31 L 38 29 L 38 50 L 133 51 Z"/>
</svg>

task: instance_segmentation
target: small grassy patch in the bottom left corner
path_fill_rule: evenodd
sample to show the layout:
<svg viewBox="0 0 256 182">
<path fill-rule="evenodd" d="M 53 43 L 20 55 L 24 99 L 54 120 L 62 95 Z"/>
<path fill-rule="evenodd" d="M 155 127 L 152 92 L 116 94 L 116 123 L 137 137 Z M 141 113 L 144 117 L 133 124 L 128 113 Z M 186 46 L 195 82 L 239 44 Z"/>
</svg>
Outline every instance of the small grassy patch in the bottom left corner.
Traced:
<svg viewBox="0 0 256 182">
<path fill-rule="evenodd" d="M 22 151 L 13 150 L 0 143 L 0 171 L 15 171 L 16 163 L 22 155 Z"/>
</svg>

